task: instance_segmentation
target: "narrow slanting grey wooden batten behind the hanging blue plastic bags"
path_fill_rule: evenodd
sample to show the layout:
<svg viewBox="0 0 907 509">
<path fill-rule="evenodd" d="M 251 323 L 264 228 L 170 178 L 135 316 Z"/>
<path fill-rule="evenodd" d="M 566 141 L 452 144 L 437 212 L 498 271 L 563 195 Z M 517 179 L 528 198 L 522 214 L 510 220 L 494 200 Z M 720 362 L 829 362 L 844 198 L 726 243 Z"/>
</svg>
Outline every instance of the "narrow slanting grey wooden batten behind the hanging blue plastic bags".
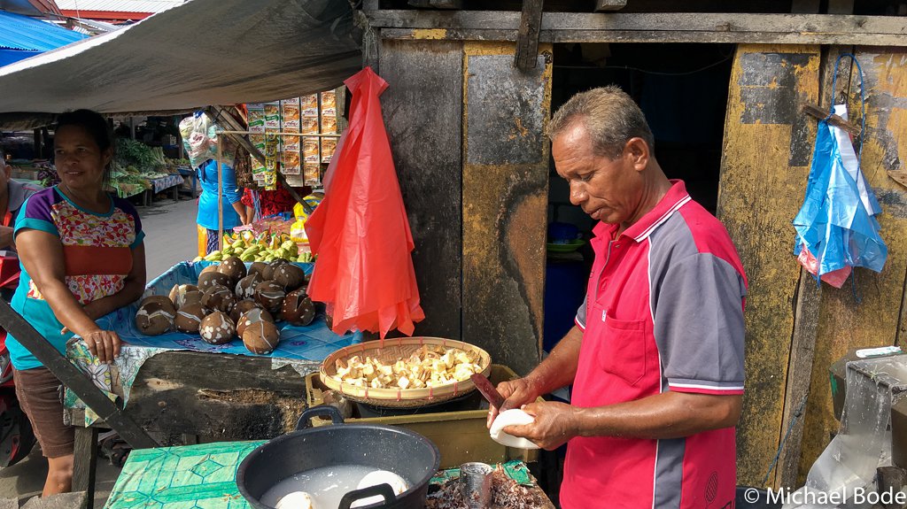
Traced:
<svg viewBox="0 0 907 509">
<path fill-rule="evenodd" d="M 832 46 L 823 53 L 820 69 L 821 107 L 817 110 L 828 114 L 830 104 L 837 95 L 832 90 L 834 82 L 834 62 L 841 53 L 849 53 L 849 46 Z M 850 81 L 850 62 L 843 62 L 839 72 L 837 86 L 847 88 Z M 824 117 L 823 117 L 824 118 Z M 853 127 L 852 124 L 849 124 Z M 859 129 L 859 128 L 857 128 Z M 785 391 L 785 411 L 781 420 L 781 439 L 786 441 L 781 450 L 775 471 L 775 487 L 796 488 L 802 485 L 799 479 L 802 441 L 805 430 L 805 403 L 810 396 L 812 386 L 813 360 L 818 331 L 819 310 L 822 305 L 821 287 L 812 274 L 804 269 L 800 271 L 800 282 L 795 293 L 794 334 L 791 339 L 790 360 L 787 365 L 787 387 Z M 788 433 L 788 429 L 790 432 Z"/>
</svg>

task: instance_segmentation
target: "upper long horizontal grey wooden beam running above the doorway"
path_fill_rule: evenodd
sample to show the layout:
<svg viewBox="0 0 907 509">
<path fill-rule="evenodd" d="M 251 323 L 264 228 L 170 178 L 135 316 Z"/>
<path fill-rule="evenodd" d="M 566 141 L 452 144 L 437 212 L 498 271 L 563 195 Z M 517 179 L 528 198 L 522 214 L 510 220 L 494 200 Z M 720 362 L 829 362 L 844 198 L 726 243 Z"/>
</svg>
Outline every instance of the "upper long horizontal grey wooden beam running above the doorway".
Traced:
<svg viewBox="0 0 907 509">
<path fill-rule="evenodd" d="M 521 13 L 510 11 L 399 11 L 367 13 L 369 23 L 382 28 L 443 28 L 512 30 Z M 849 14 L 742 13 L 544 13 L 541 31 L 711 32 L 867 36 L 907 35 L 901 16 Z"/>
</svg>

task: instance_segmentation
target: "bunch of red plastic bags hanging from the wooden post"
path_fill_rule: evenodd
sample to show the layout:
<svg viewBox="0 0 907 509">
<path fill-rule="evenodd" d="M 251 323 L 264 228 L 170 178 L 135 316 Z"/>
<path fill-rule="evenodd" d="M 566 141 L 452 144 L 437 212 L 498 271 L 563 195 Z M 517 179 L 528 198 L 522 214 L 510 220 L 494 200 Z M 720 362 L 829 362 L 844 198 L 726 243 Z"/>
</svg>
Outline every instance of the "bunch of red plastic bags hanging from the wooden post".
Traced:
<svg viewBox="0 0 907 509">
<path fill-rule="evenodd" d="M 308 283 L 327 303 L 333 330 L 412 335 L 424 319 L 406 218 L 378 96 L 387 88 L 366 67 L 346 80 L 353 92 L 349 128 L 327 169 L 325 199 L 306 222 L 318 255 Z"/>
</svg>

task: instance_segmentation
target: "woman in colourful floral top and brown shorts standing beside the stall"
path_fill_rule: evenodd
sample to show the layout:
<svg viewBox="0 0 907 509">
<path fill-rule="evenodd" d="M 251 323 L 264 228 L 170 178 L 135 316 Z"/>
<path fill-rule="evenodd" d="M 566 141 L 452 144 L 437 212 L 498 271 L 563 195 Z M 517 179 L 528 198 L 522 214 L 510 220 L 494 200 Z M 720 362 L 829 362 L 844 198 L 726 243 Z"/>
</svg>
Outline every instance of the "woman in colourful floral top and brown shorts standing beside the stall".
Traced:
<svg viewBox="0 0 907 509">
<path fill-rule="evenodd" d="M 61 182 L 35 193 L 15 223 L 23 271 L 13 309 L 63 352 L 78 334 L 101 362 L 120 353 L 120 338 L 94 321 L 141 297 L 145 247 L 132 205 L 105 192 L 113 158 L 107 121 L 90 110 L 63 113 L 54 130 Z M 60 381 L 10 337 L 15 389 L 47 457 L 44 494 L 70 491 L 73 428 L 63 425 Z"/>
</svg>

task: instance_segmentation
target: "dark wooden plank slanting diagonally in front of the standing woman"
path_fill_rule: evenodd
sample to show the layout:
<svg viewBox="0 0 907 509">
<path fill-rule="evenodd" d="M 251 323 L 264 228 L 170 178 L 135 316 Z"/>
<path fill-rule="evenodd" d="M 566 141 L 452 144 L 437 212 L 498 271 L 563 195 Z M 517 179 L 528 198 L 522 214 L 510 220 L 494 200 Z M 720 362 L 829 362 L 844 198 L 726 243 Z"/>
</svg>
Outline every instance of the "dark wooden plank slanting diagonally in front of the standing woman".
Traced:
<svg viewBox="0 0 907 509">
<path fill-rule="evenodd" d="M 44 339 L 31 324 L 13 308 L 0 299 L 0 327 L 9 331 L 15 339 L 34 354 L 37 360 L 54 375 L 67 388 L 71 389 L 86 405 L 115 429 L 123 440 L 134 448 L 156 447 L 158 444 L 149 437 L 132 418 L 123 413 L 122 408 L 94 387 L 91 379 L 78 370 L 73 364 L 54 348 L 54 345 Z"/>
</svg>

